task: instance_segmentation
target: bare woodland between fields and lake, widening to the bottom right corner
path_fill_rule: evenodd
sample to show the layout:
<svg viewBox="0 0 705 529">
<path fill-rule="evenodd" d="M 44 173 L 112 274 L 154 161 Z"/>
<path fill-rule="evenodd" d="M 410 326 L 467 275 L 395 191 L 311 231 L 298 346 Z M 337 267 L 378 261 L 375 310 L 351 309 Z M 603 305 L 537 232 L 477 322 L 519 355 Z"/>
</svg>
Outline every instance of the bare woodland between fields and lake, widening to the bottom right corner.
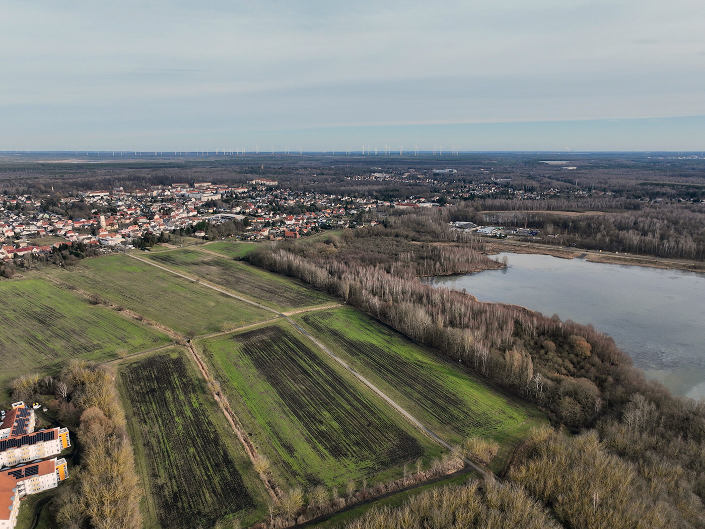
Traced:
<svg viewBox="0 0 705 529">
<path fill-rule="evenodd" d="M 405 224 L 409 233 L 413 224 Z M 317 243 L 327 248 L 316 251 L 301 243 L 262 249 L 250 261 L 344 298 L 544 406 L 554 425 L 584 433 L 571 439 L 560 431 L 535 432 L 515 452 L 508 482 L 497 488 L 507 498 L 503 504 L 496 495 L 482 496 L 487 484 L 474 484 L 472 495 L 429 492 L 436 494 L 431 500 L 422 495 L 399 509 L 373 511 L 350 528 L 542 527 L 553 519 L 575 529 L 705 527 L 704 401 L 673 397 L 647 382 L 613 340 L 591 326 L 423 284 L 413 277 L 416 257 L 388 248 L 388 229 L 367 236 L 364 254 L 348 235 Z M 421 252 L 424 245 L 412 238 L 407 242 Z M 349 253 L 348 244 L 358 253 Z M 478 462 L 491 460 L 496 450 L 481 439 L 464 449 Z M 544 507 L 550 516 L 534 517 Z M 474 517 L 465 518 L 468 511 Z"/>
</svg>

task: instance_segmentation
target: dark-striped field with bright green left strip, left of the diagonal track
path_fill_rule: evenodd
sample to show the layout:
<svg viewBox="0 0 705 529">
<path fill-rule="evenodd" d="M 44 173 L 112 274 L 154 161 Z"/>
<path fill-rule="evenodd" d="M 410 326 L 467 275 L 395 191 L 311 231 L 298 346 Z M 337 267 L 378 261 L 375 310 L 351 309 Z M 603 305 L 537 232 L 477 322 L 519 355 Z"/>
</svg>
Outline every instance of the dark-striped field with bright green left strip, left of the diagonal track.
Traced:
<svg viewBox="0 0 705 529">
<path fill-rule="evenodd" d="M 279 483 L 383 480 L 441 451 L 285 322 L 200 346 Z"/>
</svg>

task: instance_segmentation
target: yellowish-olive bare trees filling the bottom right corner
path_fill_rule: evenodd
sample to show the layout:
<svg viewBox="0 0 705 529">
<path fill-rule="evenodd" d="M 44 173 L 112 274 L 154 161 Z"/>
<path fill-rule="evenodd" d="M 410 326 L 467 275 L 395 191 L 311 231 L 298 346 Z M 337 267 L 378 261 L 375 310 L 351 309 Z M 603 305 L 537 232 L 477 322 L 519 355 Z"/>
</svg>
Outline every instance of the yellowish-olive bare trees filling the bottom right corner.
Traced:
<svg viewBox="0 0 705 529">
<path fill-rule="evenodd" d="M 638 398 L 631 402 L 613 428 L 627 427 L 627 415 L 644 406 Z M 670 455 L 645 451 L 630 461 L 618 453 L 613 434 L 568 437 L 551 428 L 534 430 L 522 449 L 522 461 L 501 482 L 429 490 L 402 506 L 373 509 L 345 529 L 705 527 L 692 475 Z"/>
</svg>

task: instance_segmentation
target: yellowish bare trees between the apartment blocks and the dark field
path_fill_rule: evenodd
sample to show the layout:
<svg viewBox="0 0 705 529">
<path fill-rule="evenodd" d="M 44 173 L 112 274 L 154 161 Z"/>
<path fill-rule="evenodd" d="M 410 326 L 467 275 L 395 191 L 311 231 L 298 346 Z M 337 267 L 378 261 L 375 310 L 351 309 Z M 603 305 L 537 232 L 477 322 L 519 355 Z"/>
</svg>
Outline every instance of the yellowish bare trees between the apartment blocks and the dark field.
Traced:
<svg viewBox="0 0 705 529">
<path fill-rule="evenodd" d="M 52 392 L 51 411 L 71 429 L 80 466 L 57 490 L 50 512 L 66 529 L 142 527 L 142 488 L 135 471 L 125 415 L 108 367 L 72 361 L 60 377 L 25 375 L 13 382 L 13 397 Z"/>
</svg>

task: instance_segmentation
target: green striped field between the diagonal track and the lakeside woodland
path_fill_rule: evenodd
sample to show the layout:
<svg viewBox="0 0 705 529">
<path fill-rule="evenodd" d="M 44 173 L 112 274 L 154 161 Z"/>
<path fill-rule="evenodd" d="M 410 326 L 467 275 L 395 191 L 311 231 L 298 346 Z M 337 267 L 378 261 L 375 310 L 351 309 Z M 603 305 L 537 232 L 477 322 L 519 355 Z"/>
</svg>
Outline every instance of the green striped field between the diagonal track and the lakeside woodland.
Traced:
<svg viewBox="0 0 705 529">
<path fill-rule="evenodd" d="M 450 443 L 477 435 L 507 446 L 544 420 L 536 408 L 499 394 L 358 310 L 319 310 L 296 319 Z"/>
</svg>

